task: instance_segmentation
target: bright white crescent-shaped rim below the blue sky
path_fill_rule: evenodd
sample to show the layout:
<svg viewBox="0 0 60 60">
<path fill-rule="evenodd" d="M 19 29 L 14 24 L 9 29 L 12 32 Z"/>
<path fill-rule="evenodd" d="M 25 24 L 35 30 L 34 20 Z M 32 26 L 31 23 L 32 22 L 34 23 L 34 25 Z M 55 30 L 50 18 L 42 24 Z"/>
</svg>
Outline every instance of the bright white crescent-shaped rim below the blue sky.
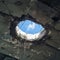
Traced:
<svg viewBox="0 0 60 60">
<path fill-rule="evenodd" d="M 44 30 L 42 34 L 41 33 L 26 34 L 21 29 L 19 29 L 18 26 L 16 26 L 16 33 L 17 33 L 17 36 L 23 39 L 26 39 L 28 41 L 34 41 L 35 39 L 41 39 L 46 34 L 46 31 Z"/>
</svg>

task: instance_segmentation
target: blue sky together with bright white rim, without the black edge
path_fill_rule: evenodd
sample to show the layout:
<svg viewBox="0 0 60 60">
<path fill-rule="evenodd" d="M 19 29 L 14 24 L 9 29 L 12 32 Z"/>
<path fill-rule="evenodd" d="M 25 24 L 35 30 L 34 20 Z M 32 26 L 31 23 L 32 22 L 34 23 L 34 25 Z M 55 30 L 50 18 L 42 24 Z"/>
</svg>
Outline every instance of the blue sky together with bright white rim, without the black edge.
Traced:
<svg viewBox="0 0 60 60">
<path fill-rule="evenodd" d="M 43 37 L 46 32 L 41 34 L 43 30 L 43 26 L 30 20 L 22 21 L 16 26 L 17 35 L 30 41 Z"/>
</svg>

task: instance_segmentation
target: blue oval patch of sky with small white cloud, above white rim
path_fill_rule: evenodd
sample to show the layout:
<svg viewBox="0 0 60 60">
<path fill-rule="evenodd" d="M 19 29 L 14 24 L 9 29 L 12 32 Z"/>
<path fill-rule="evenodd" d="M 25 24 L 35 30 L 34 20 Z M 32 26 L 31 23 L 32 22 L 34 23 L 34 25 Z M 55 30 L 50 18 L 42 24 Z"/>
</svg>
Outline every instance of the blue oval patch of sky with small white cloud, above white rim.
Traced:
<svg viewBox="0 0 60 60">
<path fill-rule="evenodd" d="M 44 30 L 42 25 L 30 20 L 21 21 L 18 27 L 27 34 L 36 34 Z"/>
</svg>

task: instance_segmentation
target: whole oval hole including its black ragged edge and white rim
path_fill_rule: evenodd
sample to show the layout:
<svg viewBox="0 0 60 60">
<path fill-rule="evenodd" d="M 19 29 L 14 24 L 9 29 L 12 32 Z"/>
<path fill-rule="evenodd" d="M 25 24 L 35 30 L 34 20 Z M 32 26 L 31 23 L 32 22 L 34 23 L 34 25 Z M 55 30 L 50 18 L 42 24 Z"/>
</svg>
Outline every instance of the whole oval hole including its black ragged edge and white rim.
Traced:
<svg viewBox="0 0 60 60">
<path fill-rule="evenodd" d="M 16 24 L 16 22 L 18 23 Z M 40 40 L 46 35 L 44 26 L 35 22 L 30 15 L 22 15 L 20 21 L 12 21 L 10 27 L 12 37 L 17 35 L 18 37 L 27 41 Z"/>
</svg>

